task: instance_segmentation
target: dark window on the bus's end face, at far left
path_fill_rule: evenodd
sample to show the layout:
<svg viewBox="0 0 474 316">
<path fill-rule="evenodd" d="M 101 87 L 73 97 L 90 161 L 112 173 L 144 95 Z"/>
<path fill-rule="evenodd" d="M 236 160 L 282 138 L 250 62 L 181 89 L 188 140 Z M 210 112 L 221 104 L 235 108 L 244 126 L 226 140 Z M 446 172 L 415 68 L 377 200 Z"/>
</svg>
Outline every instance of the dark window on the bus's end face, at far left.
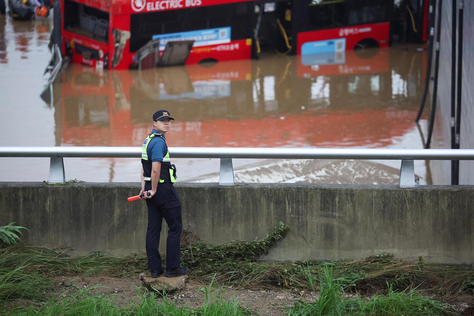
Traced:
<svg viewBox="0 0 474 316">
<path fill-rule="evenodd" d="M 71 0 L 65 0 L 64 29 L 103 43 L 108 43 L 109 13 Z"/>
</svg>

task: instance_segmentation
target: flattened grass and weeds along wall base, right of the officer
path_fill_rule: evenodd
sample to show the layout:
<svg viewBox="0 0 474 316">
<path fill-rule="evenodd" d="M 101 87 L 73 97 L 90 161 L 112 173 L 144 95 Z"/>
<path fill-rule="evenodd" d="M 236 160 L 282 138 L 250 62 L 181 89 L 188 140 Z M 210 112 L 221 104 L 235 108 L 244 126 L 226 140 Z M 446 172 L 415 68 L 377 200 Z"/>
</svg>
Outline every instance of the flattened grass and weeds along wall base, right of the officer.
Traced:
<svg viewBox="0 0 474 316">
<path fill-rule="evenodd" d="M 203 283 L 217 273 L 221 283 L 236 287 L 310 289 L 307 271 L 318 278 L 324 273 L 324 262 L 261 262 L 259 258 L 276 241 L 282 239 L 290 227 L 279 223 L 261 240 L 233 241 L 213 245 L 192 243 L 189 234 L 182 242 L 182 262 L 190 268 L 190 275 Z M 474 269 L 456 265 L 424 262 L 401 262 L 391 253 L 381 253 L 360 260 L 333 262 L 334 278 L 345 288 L 386 289 L 387 283 L 396 289 L 419 287 L 441 294 L 472 292 Z"/>
</svg>

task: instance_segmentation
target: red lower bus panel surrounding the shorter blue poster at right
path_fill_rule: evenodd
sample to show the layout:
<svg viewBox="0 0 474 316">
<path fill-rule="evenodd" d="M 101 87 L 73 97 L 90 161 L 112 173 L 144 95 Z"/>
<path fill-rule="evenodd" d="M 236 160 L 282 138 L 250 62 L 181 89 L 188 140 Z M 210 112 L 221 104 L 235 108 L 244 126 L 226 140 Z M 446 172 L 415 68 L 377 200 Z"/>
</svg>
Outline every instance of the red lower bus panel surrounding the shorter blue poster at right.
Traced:
<svg viewBox="0 0 474 316">
<path fill-rule="evenodd" d="M 389 44 L 390 22 L 372 23 L 348 27 L 336 27 L 318 31 L 298 33 L 297 54 L 301 54 L 301 46 L 307 42 L 346 38 L 346 50 L 354 49 L 364 39 L 374 39 L 380 47 Z"/>
</svg>

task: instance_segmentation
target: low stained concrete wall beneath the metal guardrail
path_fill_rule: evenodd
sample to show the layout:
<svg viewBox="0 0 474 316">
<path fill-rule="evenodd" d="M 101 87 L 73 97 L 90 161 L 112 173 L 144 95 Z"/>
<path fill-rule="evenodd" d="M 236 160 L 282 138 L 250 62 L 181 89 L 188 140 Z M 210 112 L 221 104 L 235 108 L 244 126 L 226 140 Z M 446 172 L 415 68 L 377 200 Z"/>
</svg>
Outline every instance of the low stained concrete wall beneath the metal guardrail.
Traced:
<svg viewBox="0 0 474 316">
<path fill-rule="evenodd" d="M 292 226 L 266 259 L 361 258 L 383 251 L 436 262 L 474 262 L 474 186 L 183 183 L 184 227 L 223 243 Z M 30 229 L 32 244 L 80 253 L 144 251 L 146 205 L 135 183 L 0 182 L 0 225 Z M 163 234 L 162 234 L 163 236 Z M 164 241 L 162 242 L 164 246 Z"/>
</svg>

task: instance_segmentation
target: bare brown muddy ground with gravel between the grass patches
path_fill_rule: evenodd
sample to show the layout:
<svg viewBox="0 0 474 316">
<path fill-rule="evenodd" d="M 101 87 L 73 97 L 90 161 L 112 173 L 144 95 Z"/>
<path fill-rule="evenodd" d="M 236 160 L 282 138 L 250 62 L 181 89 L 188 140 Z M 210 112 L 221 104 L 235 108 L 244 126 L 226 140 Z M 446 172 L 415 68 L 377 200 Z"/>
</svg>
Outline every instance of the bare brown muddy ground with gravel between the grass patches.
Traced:
<svg viewBox="0 0 474 316">
<path fill-rule="evenodd" d="M 169 294 L 168 299 L 173 300 L 177 307 L 186 305 L 188 307 L 201 307 L 206 299 L 203 288 L 209 284 L 202 284 L 189 279 L 186 288 Z M 126 306 L 136 299 L 138 292 L 143 293 L 143 283 L 137 277 L 113 278 L 109 276 L 58 276 L 55 277 L 55 290 L 61 293 L 60 297 L 66 298 L 74 295 L 79 288 L 93 288 L 92 292 L 100 295 L 114 294 L 114 300 L 118 306 Z M 211 296 L 225 299 L 236 298 L 239 305 L 247 307 L 254 315 L 287 315 L 285 307 L 291 306 L 297 300 L 315 301 L 319 293 L 304 290 L 290 289 L 233 289 L 232 287 L 215 286 Z M 366 293 L 368 296 L 373 293 Z M 346 294 L 355 296 L 354 293 Z M 364 293 L 363 293 L 364 295 Z M 427 296 L 446 302 L 447 308 L 456 311 L 460 315 L 474 315 L 474 295 L 451 295 L 439 296 L 426 292 Z M 163 298 L 159 298 L 163 299 Z"/>
</svg>

